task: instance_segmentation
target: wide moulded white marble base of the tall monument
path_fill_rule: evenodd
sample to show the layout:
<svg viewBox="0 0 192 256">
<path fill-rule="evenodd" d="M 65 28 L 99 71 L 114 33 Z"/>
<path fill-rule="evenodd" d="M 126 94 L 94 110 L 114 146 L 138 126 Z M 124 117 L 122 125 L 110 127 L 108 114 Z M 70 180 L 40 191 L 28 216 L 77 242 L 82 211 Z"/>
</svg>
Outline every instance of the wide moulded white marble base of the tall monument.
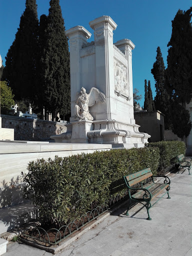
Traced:
<svg viewBox="0 0 192 256">
<path fill-rule="evenodd" d="M 125 148 L 143 147 L 150 137 L 147 133 L 138 131 L 135 123 L 122 123 L 112 119 L 90 121 L 72 121 L 67 130 L 51 138 L 57 143 L 98 143 L 122 144 Z"/>
</svg>

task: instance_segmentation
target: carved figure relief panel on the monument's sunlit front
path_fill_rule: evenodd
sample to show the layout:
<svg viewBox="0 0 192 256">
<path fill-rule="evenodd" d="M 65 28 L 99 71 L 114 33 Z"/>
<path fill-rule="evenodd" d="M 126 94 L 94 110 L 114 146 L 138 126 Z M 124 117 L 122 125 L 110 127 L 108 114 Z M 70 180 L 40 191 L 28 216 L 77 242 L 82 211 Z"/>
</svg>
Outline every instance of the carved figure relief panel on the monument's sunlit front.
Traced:
<svg viewBox="0 0 192 256">
<path fill-rule="evenodd" d="M 129 96 L 129 83 L 127 80 L 127 67 L 114 59 L 114 88 Z"/>
</svg>

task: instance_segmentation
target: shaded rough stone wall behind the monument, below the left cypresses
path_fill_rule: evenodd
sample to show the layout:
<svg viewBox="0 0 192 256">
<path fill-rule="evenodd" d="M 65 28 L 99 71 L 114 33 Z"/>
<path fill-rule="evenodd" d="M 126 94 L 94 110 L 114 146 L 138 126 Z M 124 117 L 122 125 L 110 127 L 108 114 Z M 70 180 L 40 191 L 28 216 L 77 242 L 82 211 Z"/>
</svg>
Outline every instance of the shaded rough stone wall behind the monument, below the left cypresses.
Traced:
<svg viewBox="0 0 192 256">
<path fill-rule="evenodd" d="M 49 140 L 66 131 L 65 123 L 1 115 L 1 127 L 14 129 L 14 140 Z"/>
</svg>

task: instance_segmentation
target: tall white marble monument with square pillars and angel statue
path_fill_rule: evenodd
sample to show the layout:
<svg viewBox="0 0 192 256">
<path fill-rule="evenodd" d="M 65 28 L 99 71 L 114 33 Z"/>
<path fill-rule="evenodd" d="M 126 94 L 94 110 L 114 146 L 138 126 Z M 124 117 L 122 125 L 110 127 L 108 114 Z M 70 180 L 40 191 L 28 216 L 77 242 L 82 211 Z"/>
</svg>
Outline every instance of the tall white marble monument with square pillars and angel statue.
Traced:
<svg viewBox="0 0 192 256">
<path fill-rule="evenodd" d="M 91 42 L 87 42 L 91 34 L 83 26 L 65 31 L 70 46 L 71 117 L 67 131 L 51 137 L 55 142 L 142 147 L 150 135 L 138 131 L 133 115 L 135 45 L 129 39 L 113 43 L 117 25 L 109 16 L 98 17 L 89 25 L 94 30 Z"/>
</svg>

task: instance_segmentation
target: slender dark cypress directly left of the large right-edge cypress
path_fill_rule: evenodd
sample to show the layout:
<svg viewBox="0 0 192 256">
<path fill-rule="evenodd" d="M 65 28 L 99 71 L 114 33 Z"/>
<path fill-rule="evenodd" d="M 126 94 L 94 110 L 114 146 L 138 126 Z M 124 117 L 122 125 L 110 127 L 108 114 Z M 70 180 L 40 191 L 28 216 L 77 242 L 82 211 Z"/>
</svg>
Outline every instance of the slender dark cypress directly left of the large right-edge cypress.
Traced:
<svg viewBox="0 0 192 256">
<path fill-rule="evenodd" d="M 169 129 L 171 126 L 171 117 L 170 117 L 170 96 L 165 87 L 165 66 L 160 51 L 160 47 L 157 47 L 156 50 L 156 61 L 153 64 L 151 73 L 154 76 L 155 80 L 155 91 L 156 95 L 154 97 L 154 106 L 156 110 L 161 111 L 164 116 L 164 127 Z"/>
</svg>

